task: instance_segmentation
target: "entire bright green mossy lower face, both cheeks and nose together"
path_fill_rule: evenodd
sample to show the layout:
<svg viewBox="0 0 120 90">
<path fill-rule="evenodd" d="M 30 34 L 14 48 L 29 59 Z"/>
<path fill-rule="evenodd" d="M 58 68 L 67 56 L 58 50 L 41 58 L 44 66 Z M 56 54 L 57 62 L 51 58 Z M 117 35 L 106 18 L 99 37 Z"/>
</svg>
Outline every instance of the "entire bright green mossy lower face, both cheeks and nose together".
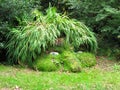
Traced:
<svg viewBox="0 0 120 90">
<path fill-rule="evenodd" d="M 69 50 L 59 55 L 43 54 L 35 60 L 33 67 L 40 71 L 69 71 L 80 72 L 82 67 L 91 67 L 96 64 L 95 55 L 83 52 L 74 53 Z"/>
</svg>

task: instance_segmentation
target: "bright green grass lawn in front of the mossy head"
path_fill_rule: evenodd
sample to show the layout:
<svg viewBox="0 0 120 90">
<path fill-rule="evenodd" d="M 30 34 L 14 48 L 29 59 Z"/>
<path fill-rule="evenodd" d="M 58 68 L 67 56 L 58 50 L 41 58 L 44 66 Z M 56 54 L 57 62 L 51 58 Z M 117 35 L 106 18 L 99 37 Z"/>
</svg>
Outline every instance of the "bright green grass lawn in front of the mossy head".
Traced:
<svg viewBox="0 0 120 90">
<path fill-rule="evenodd" d="M 69 73 L 0 64 L 0 90 L 120 90 L 120 65 L 100 57 L 96 66 Z"/>
</svg>

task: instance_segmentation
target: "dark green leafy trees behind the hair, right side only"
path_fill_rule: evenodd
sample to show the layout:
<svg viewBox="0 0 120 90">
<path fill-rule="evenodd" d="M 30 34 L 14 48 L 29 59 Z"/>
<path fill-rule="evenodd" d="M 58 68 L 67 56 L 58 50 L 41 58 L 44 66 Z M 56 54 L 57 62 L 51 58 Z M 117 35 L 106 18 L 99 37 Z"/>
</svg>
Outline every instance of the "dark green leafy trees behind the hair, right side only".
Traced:
<svg viewBox="0 0 120 90">
<path fill-rule="evenodd" d="M 60 12 L 83 21 L 95 33 L 105 39 L 120 42 L 120 3 L 119 0 L 46 0 Z M 48 3 L 42 5 L 48 7 Z"/>
</svg>

